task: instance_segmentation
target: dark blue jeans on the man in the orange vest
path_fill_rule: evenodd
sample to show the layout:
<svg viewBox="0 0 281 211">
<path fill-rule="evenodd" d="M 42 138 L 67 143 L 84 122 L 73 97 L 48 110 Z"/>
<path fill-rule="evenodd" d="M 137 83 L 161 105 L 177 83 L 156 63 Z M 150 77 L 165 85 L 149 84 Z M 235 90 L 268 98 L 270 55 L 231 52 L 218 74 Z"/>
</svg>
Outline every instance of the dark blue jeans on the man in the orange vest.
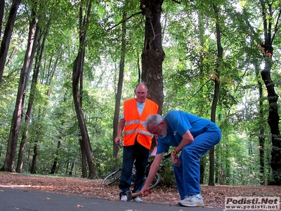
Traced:
<svg viewBox="0 0 281 211">
<path fill-rule="evenodd" d="M 133 146 L 124 147 L 122 172 L 119 182 L 119 189 L 122 191 L 120 195 L 126 195 L 126 191 L 129 191 L 131 188 L 133 162 L 135 162 L 136 176 L 132 192 L 141 191 L 141 188 L 143 188 L 146 165 L 148 164 L 148 155 L 149 149 L 142 146 L 136 140 Z"/>
</svg>

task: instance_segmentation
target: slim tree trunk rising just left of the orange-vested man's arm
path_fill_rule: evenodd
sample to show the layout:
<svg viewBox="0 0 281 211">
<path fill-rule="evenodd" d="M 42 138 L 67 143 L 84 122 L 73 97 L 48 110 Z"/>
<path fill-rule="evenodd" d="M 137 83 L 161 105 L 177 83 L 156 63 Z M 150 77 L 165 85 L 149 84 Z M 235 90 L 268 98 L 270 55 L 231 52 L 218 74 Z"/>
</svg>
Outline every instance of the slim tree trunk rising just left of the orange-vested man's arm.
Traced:
<svg viewBox="0 0 281 211">
<path fill-rule="evenodd" d="M 119 65 L 119 77 L 117 85 L 117 94 L 115 96 L 115 114 L 113 118 L 113 156 L 115 158 L 114 164 L 112 165 L 112 172 L 118 168 L 119 160 L 119 146 L 115 144 L 115 137 L 117 136 L 117 127 L 119 122 L 119 111 L 120 111 L 120 101 L 122 96 L 122 84 L 124 79 L 124 66 L 125 66 L 125 56 L 126 56 L 126 13 L 123 13 L 123 23 L 122 23 L 122 41 L 121 41 L 121 58 Z"/>
</svg>

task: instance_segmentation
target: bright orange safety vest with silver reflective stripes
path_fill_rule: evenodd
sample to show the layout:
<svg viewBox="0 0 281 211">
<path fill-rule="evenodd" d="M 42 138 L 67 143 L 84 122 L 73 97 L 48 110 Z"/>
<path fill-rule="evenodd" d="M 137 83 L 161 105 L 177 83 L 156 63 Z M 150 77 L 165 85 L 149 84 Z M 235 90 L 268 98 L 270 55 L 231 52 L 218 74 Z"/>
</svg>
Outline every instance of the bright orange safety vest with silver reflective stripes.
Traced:
<svg viewBox="0 0 281 211">
<path fill-rule="evenodd" d="M 138 113 L 138 108 L 136 106 L 136 98 L 132 98 L 124 101 L 124 119 L 125 119 L 125 128 L 124 128 L 124 146 L 131 146 L 135 143 L 136 136 L 138 143 L 140 143 L 145 148 L 150 149 L 151 141 L 153 134 L 150 134 L 143 123 L 145 122 L 146 117 L 152 114 L 157 114 L 158 105 L 146 99 L 145 106 L 143 108 L 143 113 L 141 116 Z"/>
</svg>

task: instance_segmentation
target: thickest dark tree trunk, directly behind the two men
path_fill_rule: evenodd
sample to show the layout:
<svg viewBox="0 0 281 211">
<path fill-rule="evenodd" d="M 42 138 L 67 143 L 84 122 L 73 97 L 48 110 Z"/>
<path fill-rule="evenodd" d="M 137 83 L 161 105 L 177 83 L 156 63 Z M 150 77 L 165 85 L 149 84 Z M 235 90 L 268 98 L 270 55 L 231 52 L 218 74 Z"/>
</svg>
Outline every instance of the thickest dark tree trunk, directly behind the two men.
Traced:
<svg viewBox="0 0 281 211">
<path fill-rule="evenodd" d="M 163 74 L 162 63 L 165 53 L 162 49 L 161 13 L 163 0 L 141 0 L 141 10 L 145 15 L 145 41 L 142 60 L 141 80 L 148 85 L 148 98 L 158 104 L 158 113 L 162 114 Z"/>
</svg>

